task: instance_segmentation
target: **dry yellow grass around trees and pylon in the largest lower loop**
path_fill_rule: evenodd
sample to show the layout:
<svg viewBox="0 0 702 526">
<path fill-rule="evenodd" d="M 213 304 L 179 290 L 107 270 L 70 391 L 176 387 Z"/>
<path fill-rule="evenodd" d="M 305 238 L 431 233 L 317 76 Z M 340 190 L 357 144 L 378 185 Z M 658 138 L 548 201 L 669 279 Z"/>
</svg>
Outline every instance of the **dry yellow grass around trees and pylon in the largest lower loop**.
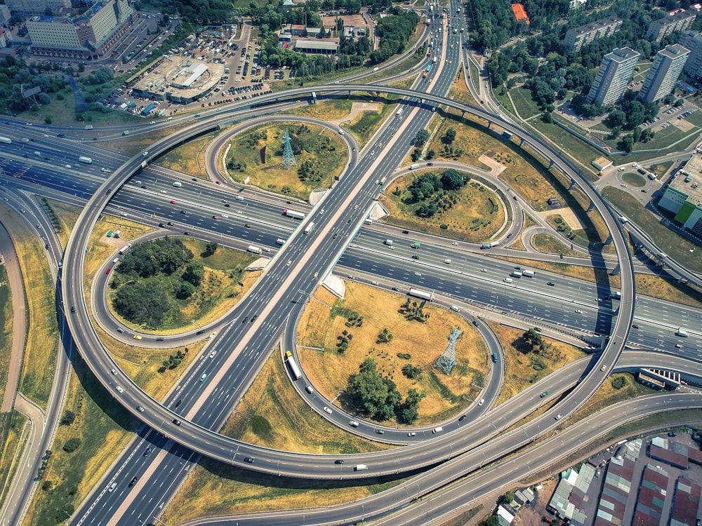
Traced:
<svg viewBox="0 0 702 526">
<path fill-rule="evenodd" d="M 346 316 L 332 317 L 329 306 L 312 300 L 300 320 L 298 352 L 310 382 L 330 400 L 346 388 L 349 375 L 358 371 L 360 363 L 372 358 L 378 365 L 378 372 L 392 379 L 402 396 L 406 396 L 409 389 L 425 394 L 419 405 L 417 424 L 430 424 L 448 418 L 477 397 L 488 372 L 488 350 L 472 325 L 446 309 L 426 305 L 425 311 L 430 314 L 428 323 L 406 320 L 398 312 L 405 299 L 390 292 L 347 283 L 345 299 L 338 302 L 335 309 L 348 309 L 364 317 L 362 327 L 352 328 L 345 326 Z M 446 376 L 435 369 L 434 363 L 446 349 L 456 327 L 461 329 L 461 337 L 456 342 L 456 367 Z M 385 328 L 393 339 L 378 344 L 376 339 Z M 353 339 L 347 351 L 338 353 L 337 337 L 343 330 L 348 330 Z M 310 348 L 321 346 L 324 351 Z M 397 353 L 409 353 L 411 359 L 399 358 Z M 416 379 L 406 378 L 401 370 L 407 363 L 420 368 L 422 374 Z"/>
</svg>

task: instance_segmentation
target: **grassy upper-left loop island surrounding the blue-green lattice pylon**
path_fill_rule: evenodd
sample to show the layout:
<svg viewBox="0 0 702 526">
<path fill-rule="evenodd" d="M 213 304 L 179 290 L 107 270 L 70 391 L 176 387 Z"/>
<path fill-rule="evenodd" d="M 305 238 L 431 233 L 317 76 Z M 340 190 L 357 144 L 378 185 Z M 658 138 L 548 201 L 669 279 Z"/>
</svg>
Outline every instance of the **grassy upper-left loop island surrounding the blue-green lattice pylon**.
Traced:
<svg viewBox="0 0 702 526">
<path fill-rule="evenodd" d="M 286 131 L 297 163 L 290 170 L 281 164 Z M 327 128 L 275 122 L 232 137 L 226 164 L 237 182 L 250 177 L 256 187 L 307 199 L 312 190 L 331 186 L 348 164 L 348 153 L 341 137 Z"/>
</svg>

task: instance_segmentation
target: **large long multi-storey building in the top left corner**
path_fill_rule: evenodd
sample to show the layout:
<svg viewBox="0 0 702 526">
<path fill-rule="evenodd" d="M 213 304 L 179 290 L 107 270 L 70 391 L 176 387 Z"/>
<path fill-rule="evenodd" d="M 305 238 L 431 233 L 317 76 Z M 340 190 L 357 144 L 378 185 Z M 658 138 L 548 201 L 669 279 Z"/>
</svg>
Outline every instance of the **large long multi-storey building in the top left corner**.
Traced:
<svg viewBox="0 0 702 526">
<path fill-rule="evenodd" d="M 74 18 L 34 16 L 27 20 L 32 53 L 98 58 L 128 33 L 133 14 L 127 0 L 107 0 Z"/>
</svg>

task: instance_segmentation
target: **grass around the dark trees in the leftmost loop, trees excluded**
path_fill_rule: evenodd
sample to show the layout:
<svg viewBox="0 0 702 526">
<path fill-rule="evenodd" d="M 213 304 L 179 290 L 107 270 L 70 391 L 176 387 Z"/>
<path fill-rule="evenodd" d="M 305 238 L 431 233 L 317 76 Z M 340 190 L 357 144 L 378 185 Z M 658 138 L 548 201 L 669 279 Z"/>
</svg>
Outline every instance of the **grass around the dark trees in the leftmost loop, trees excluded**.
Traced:
<svg viewBox="0 0 702 526">
<path fill-rule="evenodd" d="M 180 241 L 183 241 L 183 244 L 193 253 L 194 258 L 192 260 L 194 262 L 199 261 L 204 265 L 205 276 L 202 283 L 190 298 L 176 299 L 172 297 L 171 311 L 166 315 L 164 323 L 155 329 L 136 325 L 119 316 L 119 313 L 112 308 L 112 301 L 117 295 L 119 286 L 114 289 L 111 286 L 107 292 L 107 297 L 110 299 L 112 315 L 126 327 L 144 332 L 153 332 L 154 334 L 174 334 L 183 329 L 191 330 L 201 325 L 207 325 L 219 319 L 227 311 L 230 311 L 239 301 L 239 297 L 245 292 L 246 284 L 248 283 L 251 286 L 258 278 L 258 272 L 246 272 L 246 267 L 258 259 L 258 257 L 249 252 L 220 247 L 213 255 L 205 257 L 206 243 L 204 241 L 192 238 L 181 238 Z M 145 283 L 156 282 L 161 285 L 161 288 L 171 290 L 171 281 L 176 275 L 180 275 L 182 270 L 179 269 L 170 276 L 159 274 L 151 278 L 144 278 L 142 281 Z M 116 275 L 112 276 L 112 279 L 116 283 L 123 283 L 128 280 L 128 278 L 119 274 L 119 266 L 117 267 Z M 244 283 L 244 285 L 239 285 L 239 283 Z"/>
</svg>

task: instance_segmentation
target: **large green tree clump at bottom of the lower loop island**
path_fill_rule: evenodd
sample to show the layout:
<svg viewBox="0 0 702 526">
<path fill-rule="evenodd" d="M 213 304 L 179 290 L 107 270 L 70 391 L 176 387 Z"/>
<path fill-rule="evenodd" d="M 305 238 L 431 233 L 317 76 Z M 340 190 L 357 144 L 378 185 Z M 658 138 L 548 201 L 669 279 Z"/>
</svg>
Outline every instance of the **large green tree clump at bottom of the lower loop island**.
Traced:
<svg viewBox="0 0 702 526">
<path fill-rule="evenodd" d="M 359 366 L 359 372 L 349 379 L 346 396 L 357 410 L 367 417 L 383 421 L 395 417 L 403 424 L 411 424 L 418 417 L 418 406 L 423 395 L 410 389 L 402 402 L 395 382 L 378 373 L 378 367 L 371 358 L 366 358 Z"/>
</svg>

